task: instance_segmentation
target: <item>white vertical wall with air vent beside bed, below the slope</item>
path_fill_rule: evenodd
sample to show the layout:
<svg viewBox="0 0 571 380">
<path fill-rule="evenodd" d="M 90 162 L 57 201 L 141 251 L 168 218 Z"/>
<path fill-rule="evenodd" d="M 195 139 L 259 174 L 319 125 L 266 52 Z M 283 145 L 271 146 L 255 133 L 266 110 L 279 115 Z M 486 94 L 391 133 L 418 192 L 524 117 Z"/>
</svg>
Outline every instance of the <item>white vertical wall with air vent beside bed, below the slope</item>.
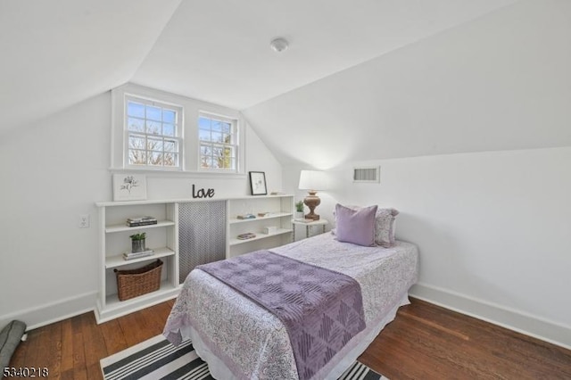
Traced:
<svg viewBox="0 0 571 380">
<path fill-rule="evenodd" d="M 358 164 L 380 165 L 381 183 L 354 184 Z M 322 217 L 332 220 L 335 202 L 401 211 L 397 238 L 420 251 L 413 295 L 571 347 L 571 147 L 360 161 L 328 173 L 335 185 L 321 193 Z M 284 176 L 295 184 L 299 168 Z"/>
</svg>

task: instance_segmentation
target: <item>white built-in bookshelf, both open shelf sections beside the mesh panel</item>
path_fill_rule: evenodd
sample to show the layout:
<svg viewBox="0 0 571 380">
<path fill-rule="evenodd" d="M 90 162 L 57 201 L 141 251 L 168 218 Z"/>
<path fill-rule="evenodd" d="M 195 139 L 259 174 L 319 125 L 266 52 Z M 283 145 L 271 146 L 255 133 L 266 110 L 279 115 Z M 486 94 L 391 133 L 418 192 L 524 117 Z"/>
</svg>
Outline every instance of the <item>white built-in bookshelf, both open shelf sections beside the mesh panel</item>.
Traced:
<svg viewBox="0 0 571 380">
<path fill-rule="evenodd" d="M 216 199 L 226 204 L 226 257 L 269 249 L 292 241 L 292 218 L 294 216 L 294 195 L 260 195 L 240 198 Z M 99 295 L 95 308 L 97 323 L 118 318 L 130 312 L 145 309 L 154 304 L 175 298 L 180 291 L 178 278 L 178 206 L 186 202 L 204 200 L 179 199 L 161 201 L 96 202 L 99 211 Z M 237 219 L 238 215 L 252 213 L 255 219 Z M 267 213 L 258 216 L 259 213 Z M 153 216 L 157 224 L 128 227 L 128 218 Z M 264 227 L 276 227 L 270 234 L 264 234 Z M 153 255 L 124 260 L 123 253 L 130 252 L 129 235 L 145 232 L 147 248 Z M 237 239 L 237 235 L 252 232 L 256 237 Z M 163 261 L 161 287 L 158 291 L 146 293 L 126 301 L 119 301 L 114 269 L 141 268 L 154 260 Z"/>
</svg>

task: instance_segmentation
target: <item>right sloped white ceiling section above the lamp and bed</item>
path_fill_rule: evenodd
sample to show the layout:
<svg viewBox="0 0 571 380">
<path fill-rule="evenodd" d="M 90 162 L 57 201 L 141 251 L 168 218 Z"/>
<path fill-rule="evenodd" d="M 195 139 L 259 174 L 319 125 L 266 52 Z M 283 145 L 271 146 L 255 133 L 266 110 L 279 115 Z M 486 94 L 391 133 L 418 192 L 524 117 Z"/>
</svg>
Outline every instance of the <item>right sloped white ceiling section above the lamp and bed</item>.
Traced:
<svg viewBox="0 0 571 380">
<path fill-rule="evenodd" d="M 282 164 L 571 145 L 571 2 L 524 1 L 244 111 Z"/>
</svg>

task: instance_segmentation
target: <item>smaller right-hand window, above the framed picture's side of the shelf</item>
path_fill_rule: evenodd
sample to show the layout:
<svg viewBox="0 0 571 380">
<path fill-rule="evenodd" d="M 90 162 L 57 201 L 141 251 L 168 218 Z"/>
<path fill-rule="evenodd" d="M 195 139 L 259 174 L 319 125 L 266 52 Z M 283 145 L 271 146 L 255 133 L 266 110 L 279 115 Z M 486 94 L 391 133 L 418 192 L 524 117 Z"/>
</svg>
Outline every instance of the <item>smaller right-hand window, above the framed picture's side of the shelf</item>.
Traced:
<svg viewBox="0 0 571 380">
<path fill-rule="evenodd" d="M 236 171 L 238 157 L 237 120 L 201 112 L 198 117 L 200 168 Z"/>
</svg>

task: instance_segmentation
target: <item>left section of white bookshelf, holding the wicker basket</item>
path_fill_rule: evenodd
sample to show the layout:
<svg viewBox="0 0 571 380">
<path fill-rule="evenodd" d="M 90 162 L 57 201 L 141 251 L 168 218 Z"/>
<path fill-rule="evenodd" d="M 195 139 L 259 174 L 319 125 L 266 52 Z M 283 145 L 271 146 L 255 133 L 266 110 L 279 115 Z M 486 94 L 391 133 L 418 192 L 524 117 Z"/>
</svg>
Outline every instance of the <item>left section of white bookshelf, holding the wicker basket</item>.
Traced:
<svg viewBox="0 0 571 380">
<path fill-rule="evenodd" d="M 178 203 L 177 202 L 98 202 L 99 211 L 99 296 L 97 323 L 164 302 L 178 295 Z M 128 227 L 128 218 L 151 215 L 157 224 Z M 145 232 L 145 245 L 153 255 L 125 260 L 131 251 L 129 235 Z M 114 269 L 141 268 L 161 259 L 160 289 L 135 298 L 119 301 Z"/>
</svg>

